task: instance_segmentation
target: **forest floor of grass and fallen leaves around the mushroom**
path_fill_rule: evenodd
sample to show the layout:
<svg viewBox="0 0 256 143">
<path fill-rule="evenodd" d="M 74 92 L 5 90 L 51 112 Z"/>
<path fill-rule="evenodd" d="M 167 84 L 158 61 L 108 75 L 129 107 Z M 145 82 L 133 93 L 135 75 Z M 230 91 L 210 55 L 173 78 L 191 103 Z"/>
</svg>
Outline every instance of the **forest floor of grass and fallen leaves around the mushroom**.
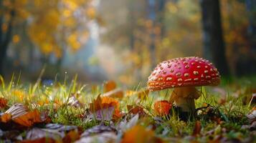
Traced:
<svg viewBox="0 0 256 143">
<path fill-rule="evenodd" d="M 5 142 L 256 142 L 256 78 L 198 87 L 196 115 L 181 121 L 172 89 L 123 89 L 67 82 L 0 87 L 0 139 Z M 5 84 L 4 84 L 5 83 Z M 253 98 L 255 97 L 255 99 Z M 172 108 L 171 108 L 172 107 Z"/>
</svg>

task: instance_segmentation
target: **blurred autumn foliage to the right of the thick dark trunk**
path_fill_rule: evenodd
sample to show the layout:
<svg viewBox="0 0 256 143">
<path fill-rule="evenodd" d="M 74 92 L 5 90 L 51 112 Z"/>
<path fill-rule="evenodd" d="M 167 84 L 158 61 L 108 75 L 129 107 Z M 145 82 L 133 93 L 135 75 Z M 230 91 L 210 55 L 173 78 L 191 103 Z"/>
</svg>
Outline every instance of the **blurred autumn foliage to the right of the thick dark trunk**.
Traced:
<svg viewBox="0 0 256 143">
<path fill-rule="evenodd" d="M 252 30 L 255 13 L 250 11 L 253 4 L 250 3 L 250 8 L 246 4 L 245 1 L 238 0 L 221 1 L 227 60 L 232 74 L 238 76 L 254 74 L 256 71 L 256 50 L 253 46 L 255 38 Z"/>
</svg>

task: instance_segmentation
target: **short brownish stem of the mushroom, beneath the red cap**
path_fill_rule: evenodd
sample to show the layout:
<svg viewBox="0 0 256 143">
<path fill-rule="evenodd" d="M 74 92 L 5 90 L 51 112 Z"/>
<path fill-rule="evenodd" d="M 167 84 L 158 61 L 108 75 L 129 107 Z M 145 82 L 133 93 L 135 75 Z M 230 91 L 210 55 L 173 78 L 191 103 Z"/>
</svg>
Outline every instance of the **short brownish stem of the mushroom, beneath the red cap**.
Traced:
<svg viewBox="0 0 256 143">
<path fill-rule="evenodd" d="M 171 93 L 170 102 L 174 102 L 176 107 L 181 107 L 182 112 L 195 112 L 194 99 L 198 99 L 200 94 L 195 87 L 176 87 Z"/>
</svg>

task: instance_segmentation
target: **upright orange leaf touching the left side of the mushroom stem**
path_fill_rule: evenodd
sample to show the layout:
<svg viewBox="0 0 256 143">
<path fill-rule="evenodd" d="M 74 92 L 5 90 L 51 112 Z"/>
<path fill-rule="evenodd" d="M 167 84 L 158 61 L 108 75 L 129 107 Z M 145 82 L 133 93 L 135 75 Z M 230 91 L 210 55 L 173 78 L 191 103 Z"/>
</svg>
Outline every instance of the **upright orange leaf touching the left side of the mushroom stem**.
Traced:
<svg viewBox="0 0 256 143">
<path fill-rule="evenodd" d="M 169 114 L 172 105 L 167 100 L 161 100 L 161 101 L 155 102 L 153 104 L 153 107 L 154 107 L 154 111 L 158 116 L 165 116 Z"/>
</svg>

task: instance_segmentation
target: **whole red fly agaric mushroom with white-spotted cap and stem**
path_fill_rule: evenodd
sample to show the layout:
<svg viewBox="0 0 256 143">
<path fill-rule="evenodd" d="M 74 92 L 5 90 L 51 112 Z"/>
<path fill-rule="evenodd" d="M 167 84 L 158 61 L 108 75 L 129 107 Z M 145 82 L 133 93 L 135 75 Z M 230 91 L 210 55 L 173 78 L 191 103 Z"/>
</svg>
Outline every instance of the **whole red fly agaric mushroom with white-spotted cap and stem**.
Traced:
<svg viewBox="0 0 256 143">
<path fill-rule="evenodd" d="M 182 112 L 195 112 L 194 99 L 200 97 L 195 87 L 218 85 L 219 71 L 206 59 L 184 57 L 163 61 L 148 77 L 148 89 L 156 91 L 174 88 L 170 102 Z"/>
</svg>

